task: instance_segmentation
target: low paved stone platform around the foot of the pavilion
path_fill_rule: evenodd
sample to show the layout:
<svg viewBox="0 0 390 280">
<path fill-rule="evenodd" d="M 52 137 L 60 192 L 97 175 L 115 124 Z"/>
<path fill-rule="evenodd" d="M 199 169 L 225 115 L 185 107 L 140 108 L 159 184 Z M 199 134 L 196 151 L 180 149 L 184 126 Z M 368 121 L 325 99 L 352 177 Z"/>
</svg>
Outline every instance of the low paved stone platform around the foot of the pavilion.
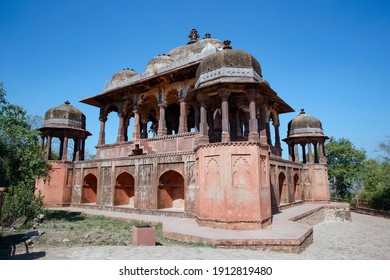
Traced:
<svg viewBox="0 0 390 280">
<path fill-rule="evenodd" d="M 195 219 L 140 215 L 76 207 L 51 208 L 100 215 L 114 219 L 162 223 L 163 235 L 184 242 L 211 244 L 216 247 L 250 248 L 301 253 L 313 242 L 313 225 L 334 220 L 351 220 L 348 204 L 303 204 L 273 215 L 272 225 L 259 230 L 225 230 L 199 226 Z"/>
</svg>

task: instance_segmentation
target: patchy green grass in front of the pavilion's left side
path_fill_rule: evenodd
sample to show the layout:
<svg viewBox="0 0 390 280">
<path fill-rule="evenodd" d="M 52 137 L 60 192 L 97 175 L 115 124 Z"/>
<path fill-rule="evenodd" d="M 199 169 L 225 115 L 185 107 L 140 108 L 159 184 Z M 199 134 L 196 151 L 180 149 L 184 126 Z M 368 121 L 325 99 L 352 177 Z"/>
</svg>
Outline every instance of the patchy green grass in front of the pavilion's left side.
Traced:
<svg viewBox="0 0 390 280">
<path fill-rule="evenodd" d="M 103 216 L 90 216 L 77 212 L 60 210 L 47 210 L 43 223 L 34 230 L 44 232 L 34 239 L 36 247 L 78 247 L 78 246 L 130 246 L 132 245 L 132 227 L 146 225 L 140 222 L 127 222 L 106 218 Z M 163 246 L 191 246 L 210 247 L 200 243 L 184 243 L 167 239 L 162 236 L 162 224 L 156 227 L 156 241 Z M 0 247 L 10 246 L 10 243 L 22 242 L 21 238 L 31 229 L 11 231 L 2 229 Z M 8 244 L 4 244 L 8 243 Z"/>
</svg>

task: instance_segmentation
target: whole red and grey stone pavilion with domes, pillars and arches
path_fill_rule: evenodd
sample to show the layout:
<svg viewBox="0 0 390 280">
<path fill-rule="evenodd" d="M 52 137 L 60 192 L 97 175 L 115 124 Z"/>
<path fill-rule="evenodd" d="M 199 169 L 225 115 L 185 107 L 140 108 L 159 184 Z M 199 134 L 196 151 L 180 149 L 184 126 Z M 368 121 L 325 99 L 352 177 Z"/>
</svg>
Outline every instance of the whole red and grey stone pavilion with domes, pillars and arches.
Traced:
<svg viewBox="0 0 390 280">
<path fill-rule="evenodd" d="M 283 159 L 279 116 L 294 110 L 250 53 L 199 37 L 193 29 L 185 45 L 152 58 L 143 72 L 123 69 L 81 100 L 100 110 L 94 160 L 84 160 L 85 116 L 68 102 L 47 111 L 41 148 L 51 160 L 58 138 L 60 152 L 51 181 L 36 184 L 45 205 L 253 230 L 286 207 L 329 203 L 321 122 L 301 110 L 288 124 Z M 118 124 L 115 143 L 106 141 L 108 118 Z"/>
</svg>

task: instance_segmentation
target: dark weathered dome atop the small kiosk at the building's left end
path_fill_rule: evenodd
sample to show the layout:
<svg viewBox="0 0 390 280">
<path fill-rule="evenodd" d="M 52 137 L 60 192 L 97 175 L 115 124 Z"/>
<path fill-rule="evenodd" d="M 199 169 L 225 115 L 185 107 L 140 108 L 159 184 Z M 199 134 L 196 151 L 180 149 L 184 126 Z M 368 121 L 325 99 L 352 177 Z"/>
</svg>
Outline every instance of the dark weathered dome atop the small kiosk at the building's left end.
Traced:
<svg viewBox="0 0 390 280">
<path fill-rule="evenodd" d="M 66 101 L 63 105 L 49 109 L 45 113 L 42 128 L 71 128 L 85 130 L 85 115 Z"/>
</svg>

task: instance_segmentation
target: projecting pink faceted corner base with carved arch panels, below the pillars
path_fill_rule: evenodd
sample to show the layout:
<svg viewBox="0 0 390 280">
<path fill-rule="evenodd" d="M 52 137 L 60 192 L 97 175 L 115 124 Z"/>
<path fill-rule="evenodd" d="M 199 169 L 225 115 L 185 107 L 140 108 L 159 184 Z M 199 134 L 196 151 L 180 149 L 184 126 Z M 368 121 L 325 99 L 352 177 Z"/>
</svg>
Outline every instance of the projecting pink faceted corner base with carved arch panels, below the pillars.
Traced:
<svg viewBox="0 0 390 280">
<path fill-rule="evenodd" d="M 271 224 L 268 147 L 214 143 L 196 150 L 199 225 L 258 229 Z"/>
</svg>

